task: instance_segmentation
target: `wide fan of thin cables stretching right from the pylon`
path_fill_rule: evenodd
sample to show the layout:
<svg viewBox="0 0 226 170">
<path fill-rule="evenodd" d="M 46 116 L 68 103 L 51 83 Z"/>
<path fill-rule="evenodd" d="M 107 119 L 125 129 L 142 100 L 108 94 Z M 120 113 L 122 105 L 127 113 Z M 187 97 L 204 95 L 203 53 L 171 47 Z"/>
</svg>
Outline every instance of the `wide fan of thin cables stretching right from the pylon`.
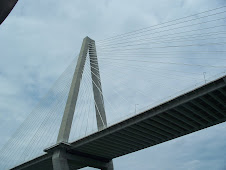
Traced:
<svg viewBox="0 0 226 170">
<path fill-rule="evenodd" d="M 223 6 L 97 41 L 109 123 L 225 75 L 225 21 Z"/>
</svg>

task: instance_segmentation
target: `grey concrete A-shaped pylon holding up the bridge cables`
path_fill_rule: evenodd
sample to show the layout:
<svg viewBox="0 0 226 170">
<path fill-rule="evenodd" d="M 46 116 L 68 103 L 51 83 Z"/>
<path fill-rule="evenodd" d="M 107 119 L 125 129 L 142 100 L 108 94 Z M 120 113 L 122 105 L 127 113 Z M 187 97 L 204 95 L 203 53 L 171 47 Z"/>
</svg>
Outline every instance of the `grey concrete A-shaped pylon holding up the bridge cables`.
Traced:
<svg viewBox="0 0 226 170">
<path fill-rule="evenodd" d="M 65 106 L 64 115 L 62 118 L 60 130 L 57 138 L 58 144 L 67 143 L 70 136 L 74 111 L 75 111 L 75 107 L 78 99 L 80 82 L 81 82 L 82 73 L 84 70 L 84 65 L 85 65 L 88 52 L 90 57 L 90 67 L 91 67 L 91 75 L 92 75 L 92 85 L 93 85 L 93 95 L 94 95 L 97 127 L 98 127 L 98 130 L 102 130 L 105 127 L 107 127 L 107 120 L 106 120 L 106 114 L 104 109 L 104 100 L 103 100 L 102 87 L 101 87 L 101 81 L 100 81 L 95 41 L 90 39 L 89 37 L 85 37 L 83 39 L 83 43 L 79 53 L 75 72 L 73 75 L 67 103 Z M 67 153 L 64 149 L 58 149 L 54 151 L 53 157 L 52 157 L 53 169 L 69 170 L 69 165 L 66 157 L 67 157 Z M 104 170 L 113 170 L 112 161 L 108 163 L 108 167 L 105 168 Z"/>
</svg>

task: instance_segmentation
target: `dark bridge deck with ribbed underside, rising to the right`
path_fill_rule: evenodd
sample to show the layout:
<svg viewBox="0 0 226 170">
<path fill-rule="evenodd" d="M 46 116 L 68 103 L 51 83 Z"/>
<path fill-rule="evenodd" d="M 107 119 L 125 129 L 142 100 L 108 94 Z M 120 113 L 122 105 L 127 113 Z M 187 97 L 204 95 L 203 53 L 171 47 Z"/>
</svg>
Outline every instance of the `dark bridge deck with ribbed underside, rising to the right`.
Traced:
<svg viewBox="0 0 226 170">
<path fill-rule="evenodd" d="M 224 121 L 226 77 L 75 141 L 67 152 L 96 160 L 111 160 Z M 35 160 L 15 169 L 32 164 L 35 165 Z"/>
</svg>

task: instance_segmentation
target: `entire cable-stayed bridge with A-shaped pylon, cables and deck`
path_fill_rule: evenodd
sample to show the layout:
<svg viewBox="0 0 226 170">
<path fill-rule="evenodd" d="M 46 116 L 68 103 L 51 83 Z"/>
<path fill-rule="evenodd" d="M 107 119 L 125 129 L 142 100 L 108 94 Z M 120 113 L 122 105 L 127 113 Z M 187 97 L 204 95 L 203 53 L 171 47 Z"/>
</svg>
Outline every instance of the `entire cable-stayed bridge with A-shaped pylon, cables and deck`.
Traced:
<svg viewBox="0 0 226 170">
<path fill-rule="evenodd" d="M 97 43 L 86 37 L 2 148 L 2 169 L 113 169 L 114 158 L 225 122 L 224 10 Z"/>
</svg>

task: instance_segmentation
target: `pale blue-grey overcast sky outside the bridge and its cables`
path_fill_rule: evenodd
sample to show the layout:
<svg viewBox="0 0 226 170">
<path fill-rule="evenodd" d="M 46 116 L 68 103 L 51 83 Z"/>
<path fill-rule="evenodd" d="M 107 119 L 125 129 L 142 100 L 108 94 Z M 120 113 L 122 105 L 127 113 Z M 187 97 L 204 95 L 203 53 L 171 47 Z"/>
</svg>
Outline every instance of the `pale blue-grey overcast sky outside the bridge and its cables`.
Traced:
<svg viewBox="0 0 226 170">
<path fill-rule="evenodd" d="M 0 26 L 0 147 L 76 57 L 85 36 L 98 41 L 225 4 L 224 0 L 20 0 Z M 114 166 L 224 170 L 225 131 L 222 123 L 117 158 Z"/>
</svg>

